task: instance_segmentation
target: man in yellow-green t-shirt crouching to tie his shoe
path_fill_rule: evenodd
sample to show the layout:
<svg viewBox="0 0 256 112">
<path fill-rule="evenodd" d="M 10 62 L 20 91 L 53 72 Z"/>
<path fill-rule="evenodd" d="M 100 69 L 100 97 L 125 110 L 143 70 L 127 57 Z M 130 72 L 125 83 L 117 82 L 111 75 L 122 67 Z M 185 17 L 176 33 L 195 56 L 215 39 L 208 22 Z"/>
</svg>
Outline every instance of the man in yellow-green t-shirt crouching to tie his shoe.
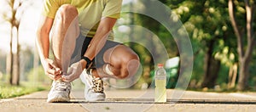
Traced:
<svg viewBox="0 0 256 112">
<path fill-rule="evenodd" d="M 121 3 L 121 0 L 44 0 L 37 44 L 44 72 L 53 80 L 47 102 L 69 101 L 70 82 L 79 76 L 85 84 L 87 101 L 104 100 L 102 77 L 122 79 L 136 74 L 137 54 L 110 41 Z M 50 43 L 54 59 L 49 59 Z"/>
</svg>

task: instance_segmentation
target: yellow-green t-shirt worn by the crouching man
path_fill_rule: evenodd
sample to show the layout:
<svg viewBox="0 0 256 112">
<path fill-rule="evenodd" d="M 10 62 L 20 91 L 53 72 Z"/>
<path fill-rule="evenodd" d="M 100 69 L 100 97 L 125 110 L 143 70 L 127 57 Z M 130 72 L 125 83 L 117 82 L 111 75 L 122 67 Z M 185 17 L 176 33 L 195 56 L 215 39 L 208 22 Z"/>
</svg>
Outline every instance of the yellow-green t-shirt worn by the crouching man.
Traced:
<svg viewBox="0 0 256 112">
<path fill-rule="evenodd" d="M 72 4 L 78 9 L 82 35 L 93 37 L 102 18 L 119 19 L 122 0 L 44 0 L 43 14 L 54 19 L 63 4 Z M 108 38 L 113 38 L 113 31 Z"/>
</svg>

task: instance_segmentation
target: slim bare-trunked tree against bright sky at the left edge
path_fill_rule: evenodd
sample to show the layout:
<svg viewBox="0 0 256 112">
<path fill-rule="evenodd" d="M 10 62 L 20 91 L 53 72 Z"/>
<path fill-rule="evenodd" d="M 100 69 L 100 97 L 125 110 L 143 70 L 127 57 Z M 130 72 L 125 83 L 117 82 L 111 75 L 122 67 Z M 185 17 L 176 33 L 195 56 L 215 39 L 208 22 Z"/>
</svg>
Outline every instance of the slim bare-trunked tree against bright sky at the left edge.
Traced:
<svg viewBox="0 0 256 112">
<path fill-rule="evenodd" d="M 8 0 L 10 12 L 3 14 L 4 19 L 10 24 L 10 50 L 9 59 L 7 59 L 7 74 L 10 76 L 9 82 L 12 85 L 19 85 L 20 78 L 19 28 L 21 15 L 24 12 L 24 8 L 21 7 L 23 2 L 22 0 Z M 14 40 L 15 42 L 13 42 Z"/>
</svg>

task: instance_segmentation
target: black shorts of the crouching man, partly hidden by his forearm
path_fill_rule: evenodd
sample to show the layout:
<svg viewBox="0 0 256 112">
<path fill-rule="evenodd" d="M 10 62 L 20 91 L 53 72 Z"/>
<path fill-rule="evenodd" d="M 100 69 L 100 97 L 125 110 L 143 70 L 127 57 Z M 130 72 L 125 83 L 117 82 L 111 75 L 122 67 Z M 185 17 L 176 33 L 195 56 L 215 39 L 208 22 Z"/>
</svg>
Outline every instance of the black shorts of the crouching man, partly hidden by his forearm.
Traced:
<svg viewBox="0 0 256 112">
<path fill-rule="evenodd" d="M 78 62 L 79 59 L 81 59 L 81 57 L 84 56 L 84 53 L 86 52 L 91 39 L 92 39 L 92 37 L 85 37 L 80 34 L 80 36 L 76 40 L 76 46 L 75 46 L 73 55 L 71 57 L 71 64 Z M 102 50 L 99 53 L 97 53 L 96 57 L 93 59 L 92 67 L 95 67 L 95 68 L 102 67 L 102 65 L 105 64 L 105 62 L 103 60 L 104 53 L 109 48 L 114 48 L 120 44 L 121 43 L 119 43 L 119 42 L 113 42 L 113 41 L 107 40 L 107 42 L 105 43 Z"/>
</svg>

